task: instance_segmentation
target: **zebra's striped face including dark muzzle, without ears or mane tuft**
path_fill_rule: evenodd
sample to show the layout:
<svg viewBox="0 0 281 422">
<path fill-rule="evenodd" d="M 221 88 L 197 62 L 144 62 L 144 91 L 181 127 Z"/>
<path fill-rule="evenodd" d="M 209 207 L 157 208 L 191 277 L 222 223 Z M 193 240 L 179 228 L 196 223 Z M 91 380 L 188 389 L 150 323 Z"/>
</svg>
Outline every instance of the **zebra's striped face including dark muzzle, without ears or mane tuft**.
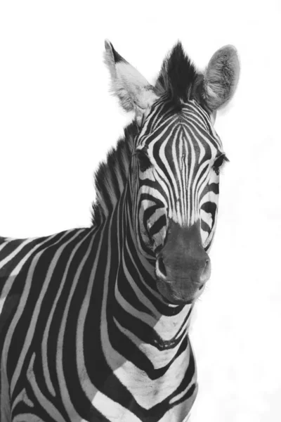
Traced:
<svg viewBox="0 0 281 422">
<path fill-rule="evenodd" d="M 170 293 L 159 290 L 171 302 L 192 301 L 209 279 L 206 251 L 216 227 L 224 160 L 211 117 L 197 101 L 181 111 L 163 100 L 152 106 L 133 159 L 136 238 L 143 255 L 157 258 L 157 279 Z"/>
</svg>

